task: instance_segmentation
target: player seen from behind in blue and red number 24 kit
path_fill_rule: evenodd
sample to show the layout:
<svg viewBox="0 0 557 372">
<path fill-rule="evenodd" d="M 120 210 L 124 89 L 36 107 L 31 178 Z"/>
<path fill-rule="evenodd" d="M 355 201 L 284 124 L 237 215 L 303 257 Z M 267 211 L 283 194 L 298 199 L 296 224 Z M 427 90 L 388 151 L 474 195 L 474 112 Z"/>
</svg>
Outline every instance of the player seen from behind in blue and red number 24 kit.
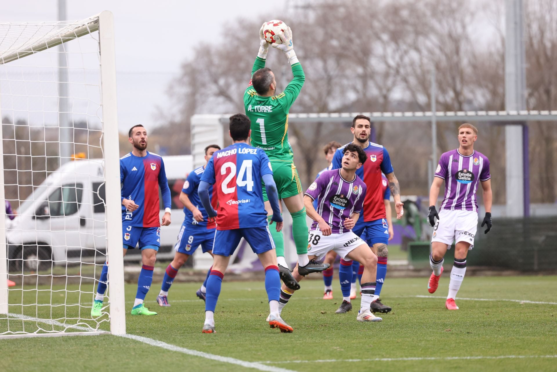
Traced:
<svg viewBox="0 0 557 372">
<path fill-rule="evenodd" d="M 221 293 L 222 278 L 243 237 L 257 254 L 265 268 L 265 289 L 269 301 L 271 328 L 281 332 L 292 332 L 278 314 L 280 276 L 275 252 L 275 243 L 267 226 L 267 212 L 263 204 L 261 180 L 265 184 L 271 204 L 276 230 L 282 229 L 282 216 L 278 206 L 278 194 L 270 161 L 265 151 L 248 144 L 251 130 L 250 119 L 244 114 L 230 117 L 229 134 L 232 145 L 216 151 L 207 163 L 199 183 L 199 197 L 209 218 L 216 217 L 217 231 L 214 235 L 213 268 L 207 279 L 205 322 L 203 333 L 214 333 L 214 310 Z M 218 214 L 209 198 L 209 187 L 217 194 Z M 271 222 L 270 221 L 270 222 Z"/>
</svg>

